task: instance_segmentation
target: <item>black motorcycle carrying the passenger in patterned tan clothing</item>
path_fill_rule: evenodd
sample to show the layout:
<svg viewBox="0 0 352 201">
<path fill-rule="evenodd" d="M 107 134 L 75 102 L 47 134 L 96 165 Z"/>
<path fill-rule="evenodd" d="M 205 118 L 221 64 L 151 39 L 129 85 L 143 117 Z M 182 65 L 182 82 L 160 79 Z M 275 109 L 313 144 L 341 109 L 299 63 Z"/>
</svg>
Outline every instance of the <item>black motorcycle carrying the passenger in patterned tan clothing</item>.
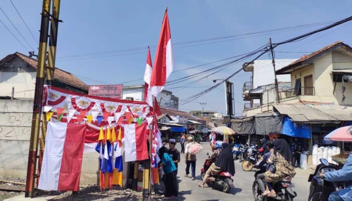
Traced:
<svg viewBox="0 0 352 201">
<path fill-rule="evenodd" d="M 261 167 L 260 170 L 255 172 L 254 174 L 254 182 L 252 185 L 252 193 L 255 201 L 271 201 L 271 200 L 284 200 L 284 201 L 292 201 L 294 197 L 297 196 L 297 193 L 293 190 L 295 185 L 291 182 L 292 178 L 290 176 L 284 177 L 281 181 L 273 183 L 273 188 L 277 193 L 276 197 L 264 196 L 261 197 L 262 193 L 259 189 L 258 182 L 256 180 L 256 175 L 263 173 L 266 171 L 265 167 Z"/>
</svg>

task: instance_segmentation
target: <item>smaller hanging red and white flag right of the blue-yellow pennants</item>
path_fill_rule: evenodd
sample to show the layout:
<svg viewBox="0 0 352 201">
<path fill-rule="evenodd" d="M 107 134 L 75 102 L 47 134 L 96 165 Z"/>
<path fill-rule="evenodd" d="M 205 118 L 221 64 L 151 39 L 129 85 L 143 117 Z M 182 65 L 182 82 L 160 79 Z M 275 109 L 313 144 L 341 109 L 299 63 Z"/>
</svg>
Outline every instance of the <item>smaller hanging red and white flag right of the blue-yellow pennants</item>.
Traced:
<svg viewBox="0 0 352 201">
<path fill-rule="evenodd" d="M 125 124 L 125 162 L 148 159 L 147 124 Z"/>
</svg>

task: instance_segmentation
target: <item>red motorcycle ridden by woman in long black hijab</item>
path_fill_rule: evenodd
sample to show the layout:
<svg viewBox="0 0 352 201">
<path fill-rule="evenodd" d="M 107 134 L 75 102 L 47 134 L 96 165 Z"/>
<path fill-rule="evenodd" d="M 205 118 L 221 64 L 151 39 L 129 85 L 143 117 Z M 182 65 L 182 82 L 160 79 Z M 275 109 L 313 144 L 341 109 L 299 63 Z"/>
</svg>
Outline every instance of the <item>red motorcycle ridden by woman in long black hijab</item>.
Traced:
<svg viewBox="0 0 352 201">
<path fill-rule="evenodd" d="M 207 153 L 207 155 L 209 155 Z M 203 168 L 201 169 L 201 177 L 202 179 L 204 178 L 205 173 L 209 169 L 211 163 L 206 159 L 203 165 Z M 221 171 L 217 175 L 212 175 L 214 179 L 210 180 L 208 179 L 208 186 L 216 188 L 218 190 L 222 190 L 223 192 L 228 193 L 231 189 L 231 186 L 233 186 L 233 179 L 232 174 L 229 172 Z"/>
</svg>

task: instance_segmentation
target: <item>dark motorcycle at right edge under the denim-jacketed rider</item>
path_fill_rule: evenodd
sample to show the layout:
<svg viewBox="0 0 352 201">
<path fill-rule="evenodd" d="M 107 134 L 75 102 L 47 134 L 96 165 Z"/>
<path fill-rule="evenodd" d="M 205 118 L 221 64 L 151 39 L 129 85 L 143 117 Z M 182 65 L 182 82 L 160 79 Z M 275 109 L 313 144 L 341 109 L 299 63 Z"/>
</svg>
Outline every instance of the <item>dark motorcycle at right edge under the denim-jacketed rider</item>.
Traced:
<svg viewBox="0 0 352 201">
<path fill-rule="evenodd" d="M 351 184 L 350 181 L 326 181 L 320 177 L 321 172 L 332 172 L 338 170 L 338 166 L 329 163 L 326 159 L 320 159 L 314 174 L 310 174 L 308 182 L 310 183 L 308 201 L 327 201 L 331 192 L 344 189 Z"/>
</svg>

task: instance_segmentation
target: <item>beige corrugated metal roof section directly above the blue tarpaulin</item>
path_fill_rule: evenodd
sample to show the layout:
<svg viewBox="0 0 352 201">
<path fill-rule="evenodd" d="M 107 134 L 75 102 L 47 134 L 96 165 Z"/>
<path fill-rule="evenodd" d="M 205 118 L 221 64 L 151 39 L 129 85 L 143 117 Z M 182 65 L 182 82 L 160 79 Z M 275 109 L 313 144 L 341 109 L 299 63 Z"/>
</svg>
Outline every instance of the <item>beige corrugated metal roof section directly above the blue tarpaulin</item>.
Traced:
<svg viewBox="0 0 352 201">
<path fill-rule="evenodd" d="M 306 105 L 274 105 L 274 107 L 283 115 L 289 116 L 294 122 L 310 121 L 341 121 L 337 118 L 325 114 Z"/>
</svg>

